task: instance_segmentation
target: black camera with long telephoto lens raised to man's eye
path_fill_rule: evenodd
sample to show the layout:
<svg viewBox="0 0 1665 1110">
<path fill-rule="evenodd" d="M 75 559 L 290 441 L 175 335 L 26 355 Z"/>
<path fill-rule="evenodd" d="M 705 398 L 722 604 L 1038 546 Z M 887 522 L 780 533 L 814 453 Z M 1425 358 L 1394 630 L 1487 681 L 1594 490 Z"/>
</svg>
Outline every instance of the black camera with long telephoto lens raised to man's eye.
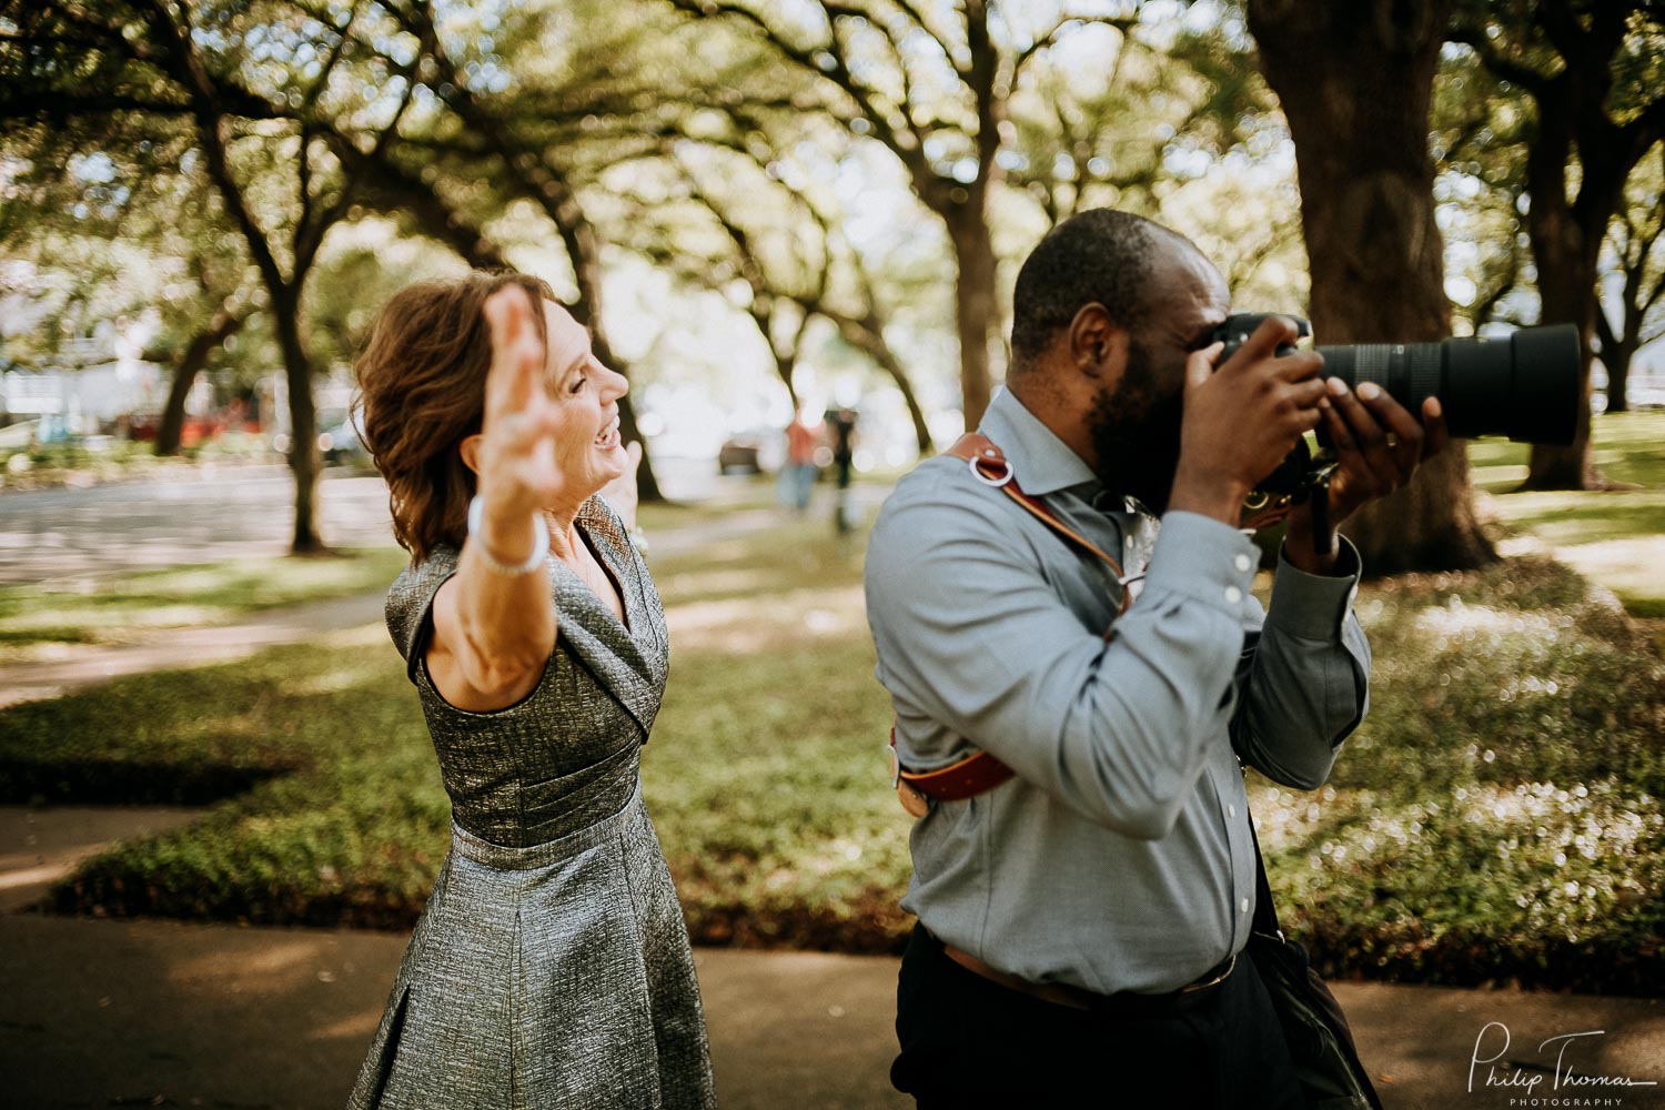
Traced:
<svg viewBox="0 0 1665 1110">
<path fill-rule="evenodd" d="M 1207 341 L 1224 341 L 1220 361 L 1274 313 L 1227 316 Z M 1282 313 L 1279 313 L 1282 315 Z M 1289 316 L 1310 334 L 1310 325 Z M 1439 398 L 1450 434 L 1508 436 L 1522 443 L 1565 446 L 1578 428 L 1583 389 L 1578 328 L 1550 325 L 1520 328 L 1498 338 L 1459 338 L 1439 343 L 1355 343 L 1320 346 L 1324 374 L 1357 388 L 1382 386 L 1412 413 Z"/>
</svg>

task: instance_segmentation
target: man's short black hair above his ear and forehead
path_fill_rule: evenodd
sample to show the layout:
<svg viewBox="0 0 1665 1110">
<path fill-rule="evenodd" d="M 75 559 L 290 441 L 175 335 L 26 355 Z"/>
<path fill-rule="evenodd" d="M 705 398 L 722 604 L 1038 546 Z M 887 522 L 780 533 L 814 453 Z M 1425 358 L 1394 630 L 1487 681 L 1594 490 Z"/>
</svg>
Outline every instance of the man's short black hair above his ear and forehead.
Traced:
<svg viewBox="0 0 1665 1110">
<path fill-rule="evenodd" d="M 1104 305 L 1116 323 L 1142 331 L 1156 306 L 1156 248 L 1190 241 L 1161 223 L 1114 208 L 1091 208 L 1046 233 L 1012 293 L 1012 369 L 1032 368 L 1052 338 L 1087 305 Z"/>
</svg>

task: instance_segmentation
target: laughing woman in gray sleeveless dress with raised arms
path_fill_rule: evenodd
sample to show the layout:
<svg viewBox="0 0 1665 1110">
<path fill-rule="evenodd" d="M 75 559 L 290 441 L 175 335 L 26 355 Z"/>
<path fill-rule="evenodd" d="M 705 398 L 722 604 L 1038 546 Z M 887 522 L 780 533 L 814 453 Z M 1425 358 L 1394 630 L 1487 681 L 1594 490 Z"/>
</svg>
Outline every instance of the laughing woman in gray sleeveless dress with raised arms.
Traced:
<svg viewBox="0 0 1665 1110">
<path fill-rule="evenodd" d="M 358 376 L 411 553 L 388 631 L 453 820 L 350 1105 L 711 1107 L 638 779 L 664 614 L 598 496 L 633 471 L 624 379 L 548 286 L 483 273 L 396 295 Z"/>
</svg>

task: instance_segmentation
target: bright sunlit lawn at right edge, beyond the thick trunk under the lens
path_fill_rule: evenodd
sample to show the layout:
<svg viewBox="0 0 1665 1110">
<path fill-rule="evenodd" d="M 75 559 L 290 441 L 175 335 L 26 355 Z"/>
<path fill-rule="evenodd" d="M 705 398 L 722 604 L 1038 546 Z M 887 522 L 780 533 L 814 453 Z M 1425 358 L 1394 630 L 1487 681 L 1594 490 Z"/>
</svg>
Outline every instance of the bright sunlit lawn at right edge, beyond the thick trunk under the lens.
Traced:
<svg viewBox="0 0 1665 1110">
<path fill-rule="evenodd" d="M 1475 488 L 1492 494 L 1503 524 L 1542 539 L 1637 616 L 1665 619 L 1665 413 L 1603 413 L 1592 436 L 1597 468 L 1638 489 L 1515 493 L 1530 448 L 1490 439 L 1469 446 Z"/>
</svg>

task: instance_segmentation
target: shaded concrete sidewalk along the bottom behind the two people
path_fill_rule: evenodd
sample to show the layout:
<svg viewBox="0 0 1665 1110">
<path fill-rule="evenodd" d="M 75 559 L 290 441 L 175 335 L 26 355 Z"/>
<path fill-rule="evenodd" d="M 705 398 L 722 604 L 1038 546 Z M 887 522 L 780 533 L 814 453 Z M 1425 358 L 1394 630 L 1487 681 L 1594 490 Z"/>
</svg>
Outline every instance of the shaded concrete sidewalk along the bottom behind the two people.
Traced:
<svg viewBox="0 0 1665 1110">
<path fill-rule="evenodd" d="M 405 935 L 17 912 L 117 827 L 191 817 L 0 809 L 0 1105 L 343 1105 Z M 729 1110 L 911 1105 L 887 1082 L 894 959 L 699 949 L 696 964 Z M 1563 1070 L 1665 1082 L 1657 1002 L 1380 984 L 1335 994 L 1390 1110 L 1665 1105 L 1658 1085 L 1552 1090 L 1562 1042 L 1543 1047 L 1588 1033 L 1565 1042 Z M 1474 1068 L 1470 1092 L 1477 1055 L 1497 1062 Z"/>
</svg>

